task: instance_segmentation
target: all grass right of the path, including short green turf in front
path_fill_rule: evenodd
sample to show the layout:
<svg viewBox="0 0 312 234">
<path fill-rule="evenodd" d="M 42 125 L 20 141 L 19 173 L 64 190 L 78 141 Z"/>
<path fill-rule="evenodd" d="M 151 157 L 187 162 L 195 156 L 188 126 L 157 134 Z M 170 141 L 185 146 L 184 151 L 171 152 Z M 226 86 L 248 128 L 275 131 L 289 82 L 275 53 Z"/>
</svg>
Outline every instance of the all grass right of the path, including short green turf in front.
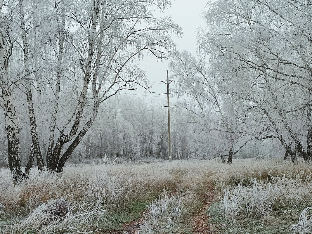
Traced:
<svg viewBox="0 0 312 234">
<path fill-rule="evenodd" d="M 311 233 L 311 164 L 251 162 L 215 176 L 220 233 Z"/>
</svg>

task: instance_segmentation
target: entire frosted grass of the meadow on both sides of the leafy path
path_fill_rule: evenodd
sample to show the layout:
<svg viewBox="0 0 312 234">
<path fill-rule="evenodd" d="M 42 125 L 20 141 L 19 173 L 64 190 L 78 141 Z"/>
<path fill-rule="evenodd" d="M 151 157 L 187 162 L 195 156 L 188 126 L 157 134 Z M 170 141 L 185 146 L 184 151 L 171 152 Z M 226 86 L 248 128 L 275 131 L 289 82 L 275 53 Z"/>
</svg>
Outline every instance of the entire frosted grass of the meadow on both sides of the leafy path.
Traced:
<svg viewBox="0 0 312 234">
<path fill-rule="evenodd" d="M 14 186 L 9 171 L 2 169 L 0 233 L 56 234 L 66 233 L 65 227 L 74 234 L 107 233 L 140 217 L 140 233 L 181 233 L 197 202 L 197 192 L 211 184 L 221 224 L 241 223 L 239 230 L 246 222 L 257 220 L 267 225 L 266 230 L 275 223 L 277 230 L 280 222 L 289 232 L 308 233 L 311 209 L 305 208 L 312 204 L 311 171 L 310 163 L 253 159 L 235 159 L 232 165 L 217 160 L 76 164 L 66 166 L 61 174 L 32 169 L 27 181 Z M 49 223 L 34 218 L 43 203 L 60 198 L 71 204 L 72 212 L 65 218 Z M 83 220 L 88 220 L 88 226 Z"/>
</svg>

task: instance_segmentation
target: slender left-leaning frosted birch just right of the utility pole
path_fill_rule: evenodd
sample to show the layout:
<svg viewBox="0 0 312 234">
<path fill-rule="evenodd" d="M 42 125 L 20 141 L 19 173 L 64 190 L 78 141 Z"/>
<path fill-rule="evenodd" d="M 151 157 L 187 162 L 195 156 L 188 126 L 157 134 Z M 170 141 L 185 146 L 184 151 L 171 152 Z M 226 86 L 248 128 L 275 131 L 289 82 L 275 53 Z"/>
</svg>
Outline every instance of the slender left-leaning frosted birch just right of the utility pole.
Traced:
<svg viewBox="0 0 312 234">
<path fill-rule="evenodd" d="M 248 118 L 241 117 L 242 101 L 223 93 L 206 62 L 195 59 L 187 51 L 175 51 L 171 70 L 177 78 L 179 92 L 190 98 L 183 105 L 192 117 L 190 122 L 196 123 L 199 131 L 206 131 L 211 139 L 207 142 L 210 148 L 227 152 L 227 162 L 232 163 L 233 155 L 242 147 L 239 147 L 240 140 L 250 137 L 245 123 Z"/>
</svg>

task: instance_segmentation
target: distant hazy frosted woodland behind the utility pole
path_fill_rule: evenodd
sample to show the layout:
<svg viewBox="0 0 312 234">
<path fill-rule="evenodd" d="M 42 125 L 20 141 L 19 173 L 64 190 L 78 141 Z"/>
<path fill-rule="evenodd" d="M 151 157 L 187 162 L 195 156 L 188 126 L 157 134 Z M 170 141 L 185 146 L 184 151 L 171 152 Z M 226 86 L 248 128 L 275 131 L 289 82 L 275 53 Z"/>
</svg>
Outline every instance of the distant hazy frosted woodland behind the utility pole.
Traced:
<svg viewBox="0 0 312 234">
<path fill-rule="evenodd" d="M 73 161 L 82 159 L 144 158 L 168 159 L 167 111 L 163 103 L 145 101 L 132 95 L 114 97 L 102 105 L 91 131 L 73 153 Z M 185 123 L 183 110 L 171 111 L 172 158 L 189 158 L 195 148 L 192 126 Z M 104 140 L 105 139 L 105 140 Z M 201 151 L 201 148 L 199 149 Z M 90 158 L 89 158 L 90 157 Z"/>
</svg>

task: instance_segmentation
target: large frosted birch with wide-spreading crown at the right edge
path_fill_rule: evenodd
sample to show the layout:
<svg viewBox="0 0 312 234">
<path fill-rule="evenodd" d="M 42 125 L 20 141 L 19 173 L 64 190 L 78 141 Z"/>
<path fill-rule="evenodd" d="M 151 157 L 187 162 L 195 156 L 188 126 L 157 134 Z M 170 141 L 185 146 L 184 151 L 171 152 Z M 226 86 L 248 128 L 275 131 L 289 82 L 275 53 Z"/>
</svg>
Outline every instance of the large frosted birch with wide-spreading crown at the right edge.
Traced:
<svg viewBox="0 0 312 234">
<path fill-rule="evenodd" d="M 308 160 L 305 142 L 310 134 L 305 139 L 301 135 L 310 129 L 305 124 L 310 123 L 310 4 L 216 1 L 207 8 L 209 28 L 199 32 L 199 47 L 211 57 L 212 70 L 225 81 L 227 93 L 263 116 L 263 137 L 278 139 L 293 160 L 289 145 L 295 142 Z"/>
</svg>

